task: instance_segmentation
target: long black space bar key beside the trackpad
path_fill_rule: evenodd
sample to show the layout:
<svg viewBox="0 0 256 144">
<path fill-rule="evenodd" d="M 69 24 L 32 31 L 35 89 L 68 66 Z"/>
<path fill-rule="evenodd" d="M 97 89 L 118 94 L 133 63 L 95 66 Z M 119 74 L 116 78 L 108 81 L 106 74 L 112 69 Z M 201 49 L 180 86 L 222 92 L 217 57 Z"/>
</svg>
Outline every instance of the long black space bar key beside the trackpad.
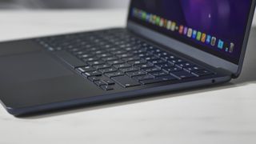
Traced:
<svg viewBox="0 0 256 144">
<path fill-rule="evenodd" d="M 85 62 L 82 62 L 80 59 L 74 57 L 74 55 L 66 51 L 58 51 L 54 54 L 56 54 L 58 58 L 62 59 L 62 61 L 66 62 L 66 64 L 70 65 L 72 68 L 86 66 Z"/>
</svg>

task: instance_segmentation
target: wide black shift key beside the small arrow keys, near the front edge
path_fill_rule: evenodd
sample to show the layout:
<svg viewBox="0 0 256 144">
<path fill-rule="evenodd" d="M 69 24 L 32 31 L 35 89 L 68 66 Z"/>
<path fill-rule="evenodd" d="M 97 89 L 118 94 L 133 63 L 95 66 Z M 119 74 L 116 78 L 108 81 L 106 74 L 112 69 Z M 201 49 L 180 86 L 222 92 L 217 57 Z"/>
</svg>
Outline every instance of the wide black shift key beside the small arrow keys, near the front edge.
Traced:
<svg viewBox="0 0 256 144">
<path fill-rule="evenodd" d="M 118 76 L 112 78 L 114 82 L 117 82 L 122 87 L 132 87 L 132 86 L 140 86 L 140 83 L 136 82 L 134 79 L 129 78 L 128 76 Z"/>
</svg>

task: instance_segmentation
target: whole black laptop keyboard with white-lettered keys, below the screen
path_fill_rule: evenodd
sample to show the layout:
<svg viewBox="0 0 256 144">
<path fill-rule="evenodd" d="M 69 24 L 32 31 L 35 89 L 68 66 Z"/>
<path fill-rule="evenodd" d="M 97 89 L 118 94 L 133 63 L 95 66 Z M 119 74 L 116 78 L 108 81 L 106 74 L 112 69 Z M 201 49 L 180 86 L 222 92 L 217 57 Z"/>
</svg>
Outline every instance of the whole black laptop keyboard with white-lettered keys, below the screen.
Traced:
<svg viewBox="0 0 256 144">
<path fill-rule="evenodd" d="M 149 44 L 126 30 L 36 39 L 102 90 L 175 82 L 214 72 Z"/>
</svg>

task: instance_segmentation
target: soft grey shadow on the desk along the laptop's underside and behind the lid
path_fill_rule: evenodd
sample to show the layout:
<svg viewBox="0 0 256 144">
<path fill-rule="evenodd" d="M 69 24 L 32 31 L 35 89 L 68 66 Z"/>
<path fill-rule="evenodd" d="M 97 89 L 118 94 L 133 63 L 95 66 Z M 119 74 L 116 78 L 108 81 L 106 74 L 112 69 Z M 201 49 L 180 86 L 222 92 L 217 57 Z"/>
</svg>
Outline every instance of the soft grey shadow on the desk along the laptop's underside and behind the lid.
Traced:
<svg viewBox="0 0 256 144">
<path fill-rule="evenodd" d="M 62 110 L 52 110 L 52 111 L 47 111 L 43 113 L 23 115 L 20 118 L 25 118 L 29 120 L 29 119 L 37 119 L 37 118 L 54 117 L 54 116 L 65 115 L 65 114 L 80 113 L 80 112 L 85 112 L 90 110 L 99 110 L 107 107 L 130 105 L 133 103 L 140 103 L 140 102 L 149 102 L 149 101 L 154 101 L 154 100 L 164 99 L 164 98 L 173 98 L 173 97 L 181 97 L 181 96 L 186 97 L 186 96 L 189 96 L 190 94 L 198 94 L 198 93 L 204 93 L 207 91 L 209 92 L 214 90 L 223 90 L 227 88 L 246 86 L 252 83 L 256 83 L 256 74 L 255 74 L 256 57 L 254 56 L 254 54 L 256 54 L 255 39 L 256 39 L 256 27 L 253 27 L 251 30 L 250 40 L 246 50 L 246 58 L 244 61 L 242 74 L 238 79 L 234 79 L 231 82 L 224 83 L 221 85 L 216 85 L 216 86 L 205 86 L 205 87 L 200 87 L 200 88 L 190 89 L 190 90 L 174 91 L 171 93 L 152 94 L 146 97 L 129 98 L 129 99 L 126 98 L 126 99 L 111 101 L 111 102 L 101 102 L 101 103 L 90 105 L 90 106 L 75 106 L 72 108 L 67 108 Z"/>
</svg>

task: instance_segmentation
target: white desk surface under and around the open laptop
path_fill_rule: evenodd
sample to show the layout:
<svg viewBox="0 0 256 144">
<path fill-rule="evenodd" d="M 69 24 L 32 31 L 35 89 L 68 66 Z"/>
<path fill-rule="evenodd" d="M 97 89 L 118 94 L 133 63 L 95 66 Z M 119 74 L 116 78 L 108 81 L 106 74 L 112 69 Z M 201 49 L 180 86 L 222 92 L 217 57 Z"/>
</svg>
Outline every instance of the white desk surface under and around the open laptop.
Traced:
<svg viewBox="0 0 256 144">
<path fill-rule="evenodd" d="M 125 19 L 126 10 L 0 11 L 0 40 L 125 26 Z M 32 118 L 0 106 L 0 143 L 255 144 L 255 38 L 256 27 L 241 77 L 226 85 Z"/>
</svg>

